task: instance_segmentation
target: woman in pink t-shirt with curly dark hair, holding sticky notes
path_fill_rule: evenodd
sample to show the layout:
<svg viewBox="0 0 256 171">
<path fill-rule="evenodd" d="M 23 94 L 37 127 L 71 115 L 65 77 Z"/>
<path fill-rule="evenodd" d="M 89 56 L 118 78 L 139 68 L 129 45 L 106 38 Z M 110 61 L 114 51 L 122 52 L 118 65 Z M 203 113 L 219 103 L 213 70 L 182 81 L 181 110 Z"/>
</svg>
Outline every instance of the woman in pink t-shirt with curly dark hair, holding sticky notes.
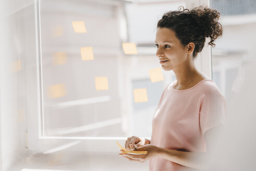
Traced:
<svg viewBox="0 0 256 171">
<path fill-rule="evenodd" d="M 132 161 L 149 160 L 150 170 L 204 168 L 215 132 L 225 122 L 226 101 L 215 82 L 194 66 L 194 58 L 202 51 L 205 38 L 215 46 L 213 42 L 222 35 L 219 17 L 216 10 L 200 6 L 169 11 L 159 20 L 156 56 L 164 70 L 174 71 L 177 80 L 163 91 L 151 140 L 132 136 L 125 143 L 129 150 L 148 153 L 120 155 Z"/>
</svg>

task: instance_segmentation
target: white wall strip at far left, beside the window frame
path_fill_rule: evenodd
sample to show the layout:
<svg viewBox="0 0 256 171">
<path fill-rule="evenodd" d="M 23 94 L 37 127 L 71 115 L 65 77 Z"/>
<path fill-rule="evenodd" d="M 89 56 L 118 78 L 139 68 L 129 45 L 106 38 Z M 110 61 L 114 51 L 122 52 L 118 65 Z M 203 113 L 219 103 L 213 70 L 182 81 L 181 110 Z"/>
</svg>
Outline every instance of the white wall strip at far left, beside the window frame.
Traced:
<svg viewBox="0 0 256 171">
<path fill-rule="evenodd" d="M 1 170 L 26 152 L 27 64 L 35 58 L 33 1 L 0 3 Z"/>
</svg>

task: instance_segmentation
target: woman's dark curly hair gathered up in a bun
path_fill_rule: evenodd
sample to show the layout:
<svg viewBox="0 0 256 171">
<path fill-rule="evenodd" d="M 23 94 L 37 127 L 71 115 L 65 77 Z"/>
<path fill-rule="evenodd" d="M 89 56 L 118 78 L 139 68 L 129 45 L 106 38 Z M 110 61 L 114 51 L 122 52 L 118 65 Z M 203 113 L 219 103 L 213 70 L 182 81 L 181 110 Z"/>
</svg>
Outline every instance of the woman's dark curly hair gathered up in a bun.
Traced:
<svg viewBox="0 0 256 171">
<path fill-rule="evenodd" d="M 193 42 L 195 45 L 193 58 L 195 58 L 202 51 L 205 38 L 210 38 L 208 44 L 215 47 L 213 42 L 222 36 L 223 30 L 221 23 L 218 22 L 219 18 L 220 13 L 207 6 L 190 10 L 180 6 L 178 10 L 165 13 L 157 22 L 157 28 L 173 30 L 183 46 Z"/>
</svg>

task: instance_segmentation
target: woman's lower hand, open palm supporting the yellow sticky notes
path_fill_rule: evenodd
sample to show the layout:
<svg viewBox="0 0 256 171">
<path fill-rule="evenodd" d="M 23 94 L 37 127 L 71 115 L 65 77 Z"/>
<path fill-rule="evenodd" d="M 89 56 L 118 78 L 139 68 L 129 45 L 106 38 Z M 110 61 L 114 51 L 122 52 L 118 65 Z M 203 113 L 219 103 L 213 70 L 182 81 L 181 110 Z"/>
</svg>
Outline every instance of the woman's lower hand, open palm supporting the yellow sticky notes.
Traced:
<svg viewBox="0 0 256 171">
<path fill-rule="evenodd" d="M 124 152 L 123 150 L 120 150 L 120 151 Z M 160 149 L 157 148 L 157 146 L 155 145 L 147 144 L 147 145 L 141 146 L 140 148 L 134 149 L 134 151 L 147 151 L 147 154 L 133 155 L 133 154 L 120 153 L 119 155 L 128 158 L 130 161 L 137 161 L 137 162 L 143 163 L 149 160 L 151 157 L 157 156 L 157 154 L 159 154 L 160 152 Z"/>
</svg>

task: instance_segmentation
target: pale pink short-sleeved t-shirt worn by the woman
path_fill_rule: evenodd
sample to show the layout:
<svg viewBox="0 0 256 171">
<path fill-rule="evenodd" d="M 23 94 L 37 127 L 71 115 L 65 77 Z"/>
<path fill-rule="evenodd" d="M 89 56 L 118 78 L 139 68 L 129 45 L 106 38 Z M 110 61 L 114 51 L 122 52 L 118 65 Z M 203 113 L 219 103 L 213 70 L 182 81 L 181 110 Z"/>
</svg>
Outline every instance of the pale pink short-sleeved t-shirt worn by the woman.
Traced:
<svg viewBox="0 0 256 171">
<path fill-rule="evenodd" d="M 176 90 L 170 83 L 163 91 L 152 120 L 151 144 L 161 148 L 205 152 L 204 132 L 225 125 L 226 100 L 211 79 L 198 82 L 186 90 Z M 196 170 L 153 157 L 150 171 Z"/>
</svg>

